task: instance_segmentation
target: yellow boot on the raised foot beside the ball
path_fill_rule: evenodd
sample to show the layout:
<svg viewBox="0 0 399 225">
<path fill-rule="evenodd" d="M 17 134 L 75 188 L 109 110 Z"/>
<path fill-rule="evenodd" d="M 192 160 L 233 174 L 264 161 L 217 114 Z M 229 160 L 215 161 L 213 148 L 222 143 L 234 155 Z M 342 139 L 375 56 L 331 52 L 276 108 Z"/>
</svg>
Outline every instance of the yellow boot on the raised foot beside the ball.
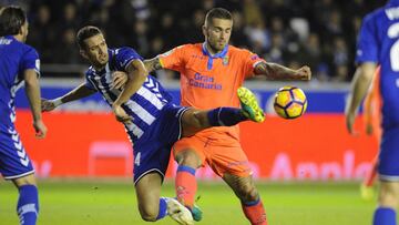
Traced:
<svg viewBox="0 0 399 225">
<path fill-rule="evenodd" d="M 257 123 L 264 122 L 265 114 L 259 108 L 255 94 L 249 89 L 244 86 L 238 88 L 237 94 L 244 115 Z"/>
</svg>

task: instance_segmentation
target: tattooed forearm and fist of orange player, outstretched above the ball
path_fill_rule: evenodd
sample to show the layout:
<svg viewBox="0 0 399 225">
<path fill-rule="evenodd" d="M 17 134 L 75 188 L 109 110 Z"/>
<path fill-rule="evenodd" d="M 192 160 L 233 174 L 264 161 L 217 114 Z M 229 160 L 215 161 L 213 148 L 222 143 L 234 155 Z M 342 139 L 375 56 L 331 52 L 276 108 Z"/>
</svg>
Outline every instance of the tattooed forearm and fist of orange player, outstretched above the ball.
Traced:
<svg viewBox="0 0 399 225">
<path fill-rule="evenodd" d="M 311 78 L 310 68 L 307 65 L 298 70 L 291 70 L 284 65 L 269 62 L 257 63 L 254 73 L 255 75 L 265 75 L 268 80 L 309 81 Z"/>
</svg>

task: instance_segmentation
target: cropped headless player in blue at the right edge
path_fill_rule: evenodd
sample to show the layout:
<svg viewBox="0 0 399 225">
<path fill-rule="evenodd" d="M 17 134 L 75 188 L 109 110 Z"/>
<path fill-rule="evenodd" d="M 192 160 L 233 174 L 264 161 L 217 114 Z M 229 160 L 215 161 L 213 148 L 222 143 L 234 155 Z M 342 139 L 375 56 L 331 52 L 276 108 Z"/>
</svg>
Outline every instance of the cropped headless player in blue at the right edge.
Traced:
<svg viewBox="0 0 399 225">
<path fill-rule="evenodd" d="M 356 110 L 380 64 L 383 131 L 378 165 L 380 188 L 374 225 L 395 225 L 399 205 L 399 0 L 390 0 L 365 17 L 356 62 L 358 68 L 346 108 L 347 129 L 354 133 Z"/>
</svg>

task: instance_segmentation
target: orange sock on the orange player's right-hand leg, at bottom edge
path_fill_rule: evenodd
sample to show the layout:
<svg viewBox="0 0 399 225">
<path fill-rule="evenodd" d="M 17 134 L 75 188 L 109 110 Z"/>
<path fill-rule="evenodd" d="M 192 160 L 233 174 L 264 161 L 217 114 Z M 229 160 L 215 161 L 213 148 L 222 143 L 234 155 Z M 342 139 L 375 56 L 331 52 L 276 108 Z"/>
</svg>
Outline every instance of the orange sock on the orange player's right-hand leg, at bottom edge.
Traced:
<svg viewBox="0 0 399 225">
<path fill-rule="evenodd" d="M 248 203 L 242 202 L 242 207 L 252 225 L 267 225 L 266 212 L 260 198 Z"/>
</svg>

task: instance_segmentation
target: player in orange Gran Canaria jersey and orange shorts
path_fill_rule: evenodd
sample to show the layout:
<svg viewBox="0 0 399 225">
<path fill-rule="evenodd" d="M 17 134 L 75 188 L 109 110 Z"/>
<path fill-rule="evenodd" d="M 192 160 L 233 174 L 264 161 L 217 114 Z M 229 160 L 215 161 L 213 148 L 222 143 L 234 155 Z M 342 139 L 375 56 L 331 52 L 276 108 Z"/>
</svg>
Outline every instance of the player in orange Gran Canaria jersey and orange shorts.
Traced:
<svg viewBox="0 0 399 225">
<path fill-rule="evenodd" d="M 238 106 L 237 89 L 244 80 L 265 75 L 269 80 L 310 80 L 308 67 L 299 70 L 267 63 L 255 53 L 229 45 L 233 19 L 231 12 L 215 8 L 207 12 L 203 34 L 205 42 L 184 44 L 154 59 L 144 61 L 151 72 L 171 69 L 181 73 L 182 105 L 211 109 L 217 105 Z M 117 85 L 119 80 L 114 80 Z M 254 185 L 248 158 L 239 144 L 238 126 L 208 129 L 184 137 L 173 146 L 178 163 L 175 180 L 177 200 L 192 209 L 197 183 L 195 171 L 207 163 L 241 200 L 250 224 L 265 225 L 266 214 Z"/>
</svg>

